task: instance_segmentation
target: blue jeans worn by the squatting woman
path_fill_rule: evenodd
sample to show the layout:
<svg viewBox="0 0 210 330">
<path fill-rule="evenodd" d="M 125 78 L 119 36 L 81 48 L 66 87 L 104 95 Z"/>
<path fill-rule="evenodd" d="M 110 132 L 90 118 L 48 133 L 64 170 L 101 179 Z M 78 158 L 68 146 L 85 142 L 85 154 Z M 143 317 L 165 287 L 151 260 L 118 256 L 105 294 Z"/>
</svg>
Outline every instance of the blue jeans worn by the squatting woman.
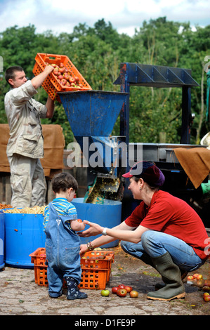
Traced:
<svg viewBox="0 0 210 330">
<path fill-rule="evenodd" d="M 183 240 L 164 234 L 164 232 L 156 232 L 155 230 L 143 232 L 141 242 L 137 244 L 122 241 L 121 246 L 126 253 L 152 266 L 151 258 L 162 256 L 167 251 L 170 253 L 173 263 L 178 265 L 184 272 L 196 270 L 205 262 Z"/>
</svg>

